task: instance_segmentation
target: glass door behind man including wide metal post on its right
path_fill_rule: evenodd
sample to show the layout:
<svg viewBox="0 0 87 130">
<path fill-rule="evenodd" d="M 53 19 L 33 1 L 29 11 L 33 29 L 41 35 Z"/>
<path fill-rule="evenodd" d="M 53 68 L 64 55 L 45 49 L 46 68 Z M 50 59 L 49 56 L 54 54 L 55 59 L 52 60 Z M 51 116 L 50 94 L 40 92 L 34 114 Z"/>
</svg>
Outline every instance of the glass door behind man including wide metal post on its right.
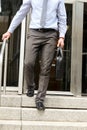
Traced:
<svg viewBox="0 0 87 130">
<path fill-rule="evenodd" d="M 64 59 L 61 72 L 63 76 L 56 80 L 55 58 L 51 67 L 48 94 L 76 95 L 81 96 L 82 77 L 82 39 L 83 39 L 83 11 L 84 3 L 75 0 L 65 1 L 67 12 L 67 33 Z M 29 17 L 28 21 L 29 23 Z M 28 33 L 28 31 L 27 31 Z M 27 41 L 26 41 L 27 42 Z M 37 67 L 38 66 L 38 67 Z M 39 63 L 36 62 L 35 82 L 38 88 Z M 36 88 L 36 89 L 37 89 Z"/>
</svg>

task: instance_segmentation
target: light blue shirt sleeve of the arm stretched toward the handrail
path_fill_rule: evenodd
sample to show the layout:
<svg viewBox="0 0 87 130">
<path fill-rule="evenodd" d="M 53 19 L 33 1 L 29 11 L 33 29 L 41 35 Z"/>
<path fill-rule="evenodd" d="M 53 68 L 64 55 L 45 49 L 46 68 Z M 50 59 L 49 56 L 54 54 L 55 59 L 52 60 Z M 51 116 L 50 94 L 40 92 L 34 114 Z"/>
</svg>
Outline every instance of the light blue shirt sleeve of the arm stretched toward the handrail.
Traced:
<svg viewBox="0 0 87 130">
<path fill-rule="evenodd" d="M 30 0 L 25 0 L 20 9 L 17 11 L 16 15 L 14 16 L 8 28 L 8 32 L 13 33 L 13 31 L 17 28 L 17 26 L 22 22 L 24 17 L 27 15 L 30 8 L 31 8 Z"/>
</svg>

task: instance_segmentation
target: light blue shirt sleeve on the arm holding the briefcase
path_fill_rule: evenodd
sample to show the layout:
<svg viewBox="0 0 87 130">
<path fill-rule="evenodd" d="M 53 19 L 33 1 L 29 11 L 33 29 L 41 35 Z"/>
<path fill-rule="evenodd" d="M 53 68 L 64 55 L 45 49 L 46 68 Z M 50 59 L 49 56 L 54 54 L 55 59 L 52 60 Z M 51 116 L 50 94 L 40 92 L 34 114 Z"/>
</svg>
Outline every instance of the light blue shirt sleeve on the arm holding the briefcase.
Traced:
<svg viewBox="0 0 87 130">
<path fill-rule="evenodd" d="M 59 37 L 65 37 L 65 33 L 67 30 L 67 22 L 66 22 L 67 16 L 64 0 L 59 1 L 57 16 L 58 16 Z"/>
</svg>

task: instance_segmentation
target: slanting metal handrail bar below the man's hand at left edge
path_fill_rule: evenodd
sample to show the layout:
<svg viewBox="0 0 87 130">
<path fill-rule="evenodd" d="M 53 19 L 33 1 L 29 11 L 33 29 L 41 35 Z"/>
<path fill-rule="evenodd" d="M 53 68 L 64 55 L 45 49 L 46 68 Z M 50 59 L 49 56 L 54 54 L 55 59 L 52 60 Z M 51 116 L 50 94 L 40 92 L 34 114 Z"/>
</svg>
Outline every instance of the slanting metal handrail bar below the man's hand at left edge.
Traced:
<svg viewBox="0 0 87 130">
<path fill-rule="evenodd" d="M 7 43 L 7 40 L 4 40 L 1 47 L 1 51 L 0 51 L 0 95 L 1 95 L 1 86 L 2 86 L 3 58 L 4 58 L 4 51 L 5 51 L 6 43 Z"/>
</svg>

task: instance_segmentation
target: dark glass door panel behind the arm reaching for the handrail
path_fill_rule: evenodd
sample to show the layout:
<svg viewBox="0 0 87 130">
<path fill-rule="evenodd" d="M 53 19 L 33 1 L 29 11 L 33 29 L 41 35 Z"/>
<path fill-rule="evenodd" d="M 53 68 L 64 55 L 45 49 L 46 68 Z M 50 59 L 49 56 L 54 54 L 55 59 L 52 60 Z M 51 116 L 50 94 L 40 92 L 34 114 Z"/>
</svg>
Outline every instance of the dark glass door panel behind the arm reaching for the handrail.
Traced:
<svg viewBox="0 0 87 130">
<path fill-rule="evenodd" d="M 0 3 L 0 42 L 2 34 L 10 25 L 13 16 L 20 8 L 22 0 L 1 0 Z M 20 55 L 21 25 L 14 31 L 8 44 L 8 63 L 6 86 L 18 87 L 19 55 Z"/>
</svg>

